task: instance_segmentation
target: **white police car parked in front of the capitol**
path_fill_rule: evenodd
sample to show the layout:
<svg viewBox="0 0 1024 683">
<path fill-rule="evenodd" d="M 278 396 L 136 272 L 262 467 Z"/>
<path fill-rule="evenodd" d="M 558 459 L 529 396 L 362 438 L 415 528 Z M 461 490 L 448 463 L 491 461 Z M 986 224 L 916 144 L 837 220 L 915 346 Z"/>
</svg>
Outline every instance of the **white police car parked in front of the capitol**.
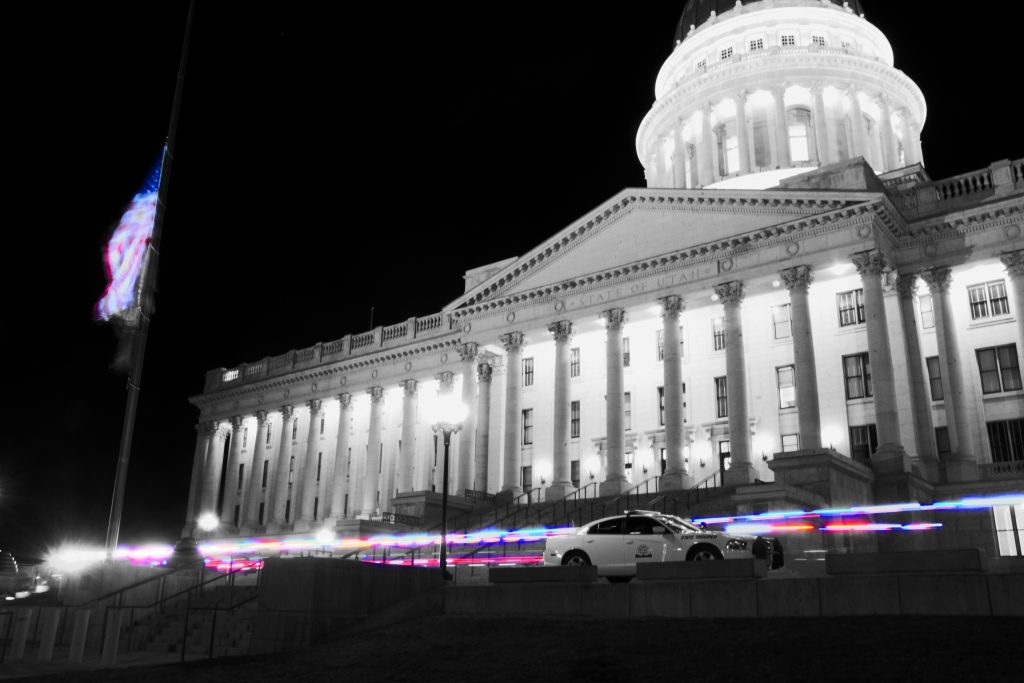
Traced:
<svg viewBox="0 0 1024 683">
<path fill-rule="evenodd" d="M 763 559 L 769 569 L 782 566 L 782 546 L 767 537 L 733 536 L 648 510 L 628 510 L 547 539 L 546 565 L 593 564 L 597 573 L 628 579 L 640 562 Z"/>
</svg>

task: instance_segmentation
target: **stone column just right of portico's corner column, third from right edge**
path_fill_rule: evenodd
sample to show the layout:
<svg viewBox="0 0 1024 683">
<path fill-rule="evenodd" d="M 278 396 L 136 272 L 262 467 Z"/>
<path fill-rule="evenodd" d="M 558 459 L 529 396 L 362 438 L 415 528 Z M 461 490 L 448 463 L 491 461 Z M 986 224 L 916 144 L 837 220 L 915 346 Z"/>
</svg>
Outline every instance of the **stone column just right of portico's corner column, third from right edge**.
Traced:
<svg viewBox="0 0 1024 683">
<path fill-rule="evenodd" d="M 918 334 L 918 313 L 913 302 L 918 298 L 918 275 L 899 273 L 896 281 L 899 295 L 900 317 L 903 323 L 903 339 L 906 343 L 907 378 L 910 381 L 910 415 L 913 420 L 914 440 L 918 442 L 918 459 L 922 475 L 929 481 L 939 481 L 939 461 L 935 453 L 935 427 L 932 424 L 932 401 L 925 383 L 925 360 L 921 353 L 921 337 Z"/>
</svg>

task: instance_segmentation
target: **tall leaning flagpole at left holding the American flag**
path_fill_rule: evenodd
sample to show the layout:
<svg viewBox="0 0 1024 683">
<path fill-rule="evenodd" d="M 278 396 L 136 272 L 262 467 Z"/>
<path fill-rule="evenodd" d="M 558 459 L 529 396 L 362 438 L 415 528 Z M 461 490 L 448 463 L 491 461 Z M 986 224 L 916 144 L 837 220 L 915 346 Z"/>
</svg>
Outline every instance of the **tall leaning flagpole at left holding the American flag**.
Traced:
<svg viewBox="0 0 1024 683">
<path fill-rule="evenodd" d="M 153 224 L 153 239 L 146 250 L 145 264 L 140 274 L 137 298 L 139 315 L 138 330 L 131 345 L 131 370 L 128 374 L 128 400 L 125 405 L 124 422 L 121 426 L 121 446 L 118 451 L 118 467 L 114 476 L 114 500 L 111 502 L 111 516 L 106 523 L 106 556 L 113 557 L 121 535 L 121 514 L 124 510 L 125 484 L 128 478 L 128 459 L 131 456 L 132 436 L 135 432 L 135 416 L 138 395 L 142 390 L 142 366 L 145 360 L 145 341 L 150 333 L 150 316 L 153 314 L 153 299 L 157 285 L 157 265 L 160 260 L 160 237 L 164 225 L 164 208 L 167 186 L 174 159 L 174 137 L 178 128 L 178 113 L 181 110 L 181 89 L 185 80 L 185 65 L 188 61 L 188 43 L 191 39 L 193 13 L 196 0 L 188 2 L 188 16 L 185 19 L 185 36 L 181 44 L 181 58 L 178 61 L 178 78 L 174 85 L 174 100 L 171 103 L 171 119 L 167 129 L 167 140 L 160 162 L 160 184 L 157 189 L 157 215 Z"/>
</svg>

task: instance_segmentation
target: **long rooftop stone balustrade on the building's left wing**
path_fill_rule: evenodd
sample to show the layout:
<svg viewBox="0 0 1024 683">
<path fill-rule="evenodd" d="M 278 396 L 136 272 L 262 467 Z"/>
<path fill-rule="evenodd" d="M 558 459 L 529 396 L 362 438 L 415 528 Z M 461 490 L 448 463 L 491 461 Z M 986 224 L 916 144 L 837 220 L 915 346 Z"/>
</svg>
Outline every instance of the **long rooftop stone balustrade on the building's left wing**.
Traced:
<svg viewBox="0 0 1024 683">
<path fill-rule="evenodd" d="M 300 366 L 342 360 L 383 348 L 400 346 L 417 339 L 440 337 L 449 334 L 452 328 L 452 322 L 446 313 L 411 317 L 404 323 L 348 335 L 324 344 L 313 344 L 308 348 L 242 364 L 237 368 L 211 370 L 206 374 L 204 391 L 216 391 L 224 386 L 236 386 L 259 381 L 264 377 L 284 375 Z"/>
</svg>

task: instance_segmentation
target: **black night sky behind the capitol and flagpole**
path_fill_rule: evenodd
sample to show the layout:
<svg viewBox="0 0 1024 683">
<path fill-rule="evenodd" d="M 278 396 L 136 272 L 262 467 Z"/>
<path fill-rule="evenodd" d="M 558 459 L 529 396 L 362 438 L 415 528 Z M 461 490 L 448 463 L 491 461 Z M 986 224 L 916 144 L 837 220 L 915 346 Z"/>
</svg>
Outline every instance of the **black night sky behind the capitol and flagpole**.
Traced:
<svg viewBox="0 0 1024 683">
<path fill-rule="evenodd" d="M 322 4 L 197 9 L 123 543 L 180 531 L 207 370 L 362 332 L 371 306 L 436 312 L 466 269 L 644 184 L 634 138 L 683 2 Z M 925 92 L 933 177 L 1024 157 L 1020 16 L 866 4 Z M 30 560 L 105 532 L 126 393 L 91 312 L 167 132 L 187 3 L 13 6 L 0 548 Z"/>
</svg>

